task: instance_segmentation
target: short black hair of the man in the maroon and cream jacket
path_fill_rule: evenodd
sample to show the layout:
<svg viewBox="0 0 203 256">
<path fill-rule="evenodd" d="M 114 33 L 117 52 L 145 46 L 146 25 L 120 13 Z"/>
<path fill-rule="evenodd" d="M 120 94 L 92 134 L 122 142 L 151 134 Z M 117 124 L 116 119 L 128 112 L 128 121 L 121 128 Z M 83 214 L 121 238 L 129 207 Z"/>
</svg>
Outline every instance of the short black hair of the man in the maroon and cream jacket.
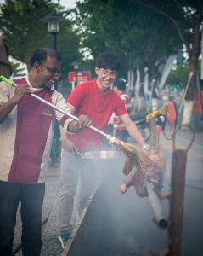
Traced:
<svg viewBox="0 0 203 256">
<path fill-rule="evenodd" d="M 31 55 L 31 67 L 33 67 L 36 62 L 42 63 L 43 61 L 46 61 L 48 56 L 56 58 L 58 61 L 61 61 L 61 56 L 54 49 L 41 48 L 35 50 L 34 53 Z"/>
</svg>

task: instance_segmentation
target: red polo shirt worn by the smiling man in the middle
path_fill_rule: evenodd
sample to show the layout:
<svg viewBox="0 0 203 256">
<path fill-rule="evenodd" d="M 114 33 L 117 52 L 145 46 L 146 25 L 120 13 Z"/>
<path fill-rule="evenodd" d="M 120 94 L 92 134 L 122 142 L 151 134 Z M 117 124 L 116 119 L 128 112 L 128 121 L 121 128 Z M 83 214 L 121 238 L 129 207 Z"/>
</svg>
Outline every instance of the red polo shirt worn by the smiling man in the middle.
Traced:
<svg viewBox="0 0 203 256">
<path fill-rule="evenodd" d="M 92 120 L 92 125 L 101 131 L 104 131 L 113 112 L 117 116 L 127 113 L 120 97 L 111 89 L 101 92 L 96 80 L 78 84 L 67 101 L 76 108 L 76 116 L 86 114 Z M 76 134 L 69 133 L 68 138 L 81 151 L 99 148 L 102 140 L 99 133 L 89 128 Z"/>
</svg>

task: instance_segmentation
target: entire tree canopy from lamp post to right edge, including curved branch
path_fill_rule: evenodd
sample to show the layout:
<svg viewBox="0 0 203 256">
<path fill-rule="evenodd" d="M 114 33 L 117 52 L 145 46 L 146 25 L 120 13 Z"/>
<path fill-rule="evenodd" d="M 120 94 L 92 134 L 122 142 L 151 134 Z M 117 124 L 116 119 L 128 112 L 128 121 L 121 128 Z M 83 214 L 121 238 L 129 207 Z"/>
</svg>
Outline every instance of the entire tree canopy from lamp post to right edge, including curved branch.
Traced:
<svg viewBox="0 0 203 256">
<path fill-rule="evenodd" d="M 94 57 L 104 50 L 116 51 L 122 73 L 132 67 L 142 76 L 144 67 L 149 67 L 149 77 L 160 79 L 159 66 L 183 45 L 189 55 L 188 72 L 197 71 L 202 1 L 83 0 L 76 2 L 75 15 L 83 47 Z M 185 79 L 188 75 L 183 74 Z"/>
</svg>

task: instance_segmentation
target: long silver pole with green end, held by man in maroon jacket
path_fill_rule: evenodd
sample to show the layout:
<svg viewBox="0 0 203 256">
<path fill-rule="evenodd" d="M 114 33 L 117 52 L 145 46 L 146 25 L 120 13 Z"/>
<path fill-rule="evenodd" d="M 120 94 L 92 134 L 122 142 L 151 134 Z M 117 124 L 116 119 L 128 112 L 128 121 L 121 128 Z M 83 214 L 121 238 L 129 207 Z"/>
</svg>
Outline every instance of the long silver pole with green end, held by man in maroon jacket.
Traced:
<svg viewBox="0 0 203 256">
<path fill-rule="evenodd" d="M 3 76 L 0 76 L 0 79 L 3 80 L 3 82 L 5 82 L 6 84 L 12 85 L 14 87 L 17 86 L 17 84 L 14 83 L 14 81 L 7 79 Z M 76 117 L 75 115 L 66 112 L 65 110 L 58 108 L 57 106 L 55 106 L 54 104 L 52 104 L 51 102 L 47 102 L 46 100 L 42 99 L 40 96 L 37 96 L 33 93 L 30 94 L 32 97 L 36 98 L 38 101 L 45 103 L 46 105 L 48 105 L 51 108 L 54 108 L 55 110 L 59 111 L 60 113 L 64 113 L 66 116 L 70 117 L 71 119 L 74 119 L 75 121 L 79 121 L 78 117 Z M 104 131 L 100 131 L 98 128 L 94 127 L 93 125 L 90 125 L 88 128 L 92 129 L 93 131 L 98 132 L 100 135 L 104 136 L 104 137 L 111 137 L 109 134 L 105 133 Z"/>
</svg>

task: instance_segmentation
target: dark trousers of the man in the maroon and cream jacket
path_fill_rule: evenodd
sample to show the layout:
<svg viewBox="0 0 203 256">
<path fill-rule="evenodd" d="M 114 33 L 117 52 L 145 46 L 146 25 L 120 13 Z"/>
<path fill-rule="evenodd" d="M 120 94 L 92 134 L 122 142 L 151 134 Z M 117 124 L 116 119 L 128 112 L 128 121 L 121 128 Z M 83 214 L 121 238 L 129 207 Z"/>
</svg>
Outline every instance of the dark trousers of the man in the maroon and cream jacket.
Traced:
<svg viewBox="0 0 203 256">
<path fill-rule="evenodd" d="M 0 181 L 0 256 L 11 256 L 16 212 L 21 202 L 22 252 L 39 256 L 45 184 L 12 184 Z"/>
</svg>

